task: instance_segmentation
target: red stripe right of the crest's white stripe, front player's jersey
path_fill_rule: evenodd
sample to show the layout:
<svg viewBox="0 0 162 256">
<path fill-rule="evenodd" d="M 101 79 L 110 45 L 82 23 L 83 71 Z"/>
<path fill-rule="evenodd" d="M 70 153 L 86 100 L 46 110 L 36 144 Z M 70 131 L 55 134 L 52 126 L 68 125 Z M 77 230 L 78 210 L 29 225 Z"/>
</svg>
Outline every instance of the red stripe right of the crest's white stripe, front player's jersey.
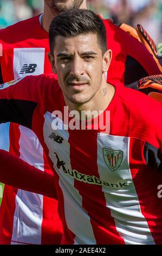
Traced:
<svg viewBox="0 0 162 256">
<path fill-rule="evenodd" d="M 157 245 L 162 243 L 162 207 L 161 199 L 158 198 L 157 187 L 162 184 L 161 172 L 144 166 L 145 159 L 142 156 L 144 142 L 137 139 L 130 140 L 129 163 L 135 190 L 137 191 L 141 212 L 146 218 L 152 237 Z M 140 172 L 139 172 L 140 169 Z"/>
</svg>

